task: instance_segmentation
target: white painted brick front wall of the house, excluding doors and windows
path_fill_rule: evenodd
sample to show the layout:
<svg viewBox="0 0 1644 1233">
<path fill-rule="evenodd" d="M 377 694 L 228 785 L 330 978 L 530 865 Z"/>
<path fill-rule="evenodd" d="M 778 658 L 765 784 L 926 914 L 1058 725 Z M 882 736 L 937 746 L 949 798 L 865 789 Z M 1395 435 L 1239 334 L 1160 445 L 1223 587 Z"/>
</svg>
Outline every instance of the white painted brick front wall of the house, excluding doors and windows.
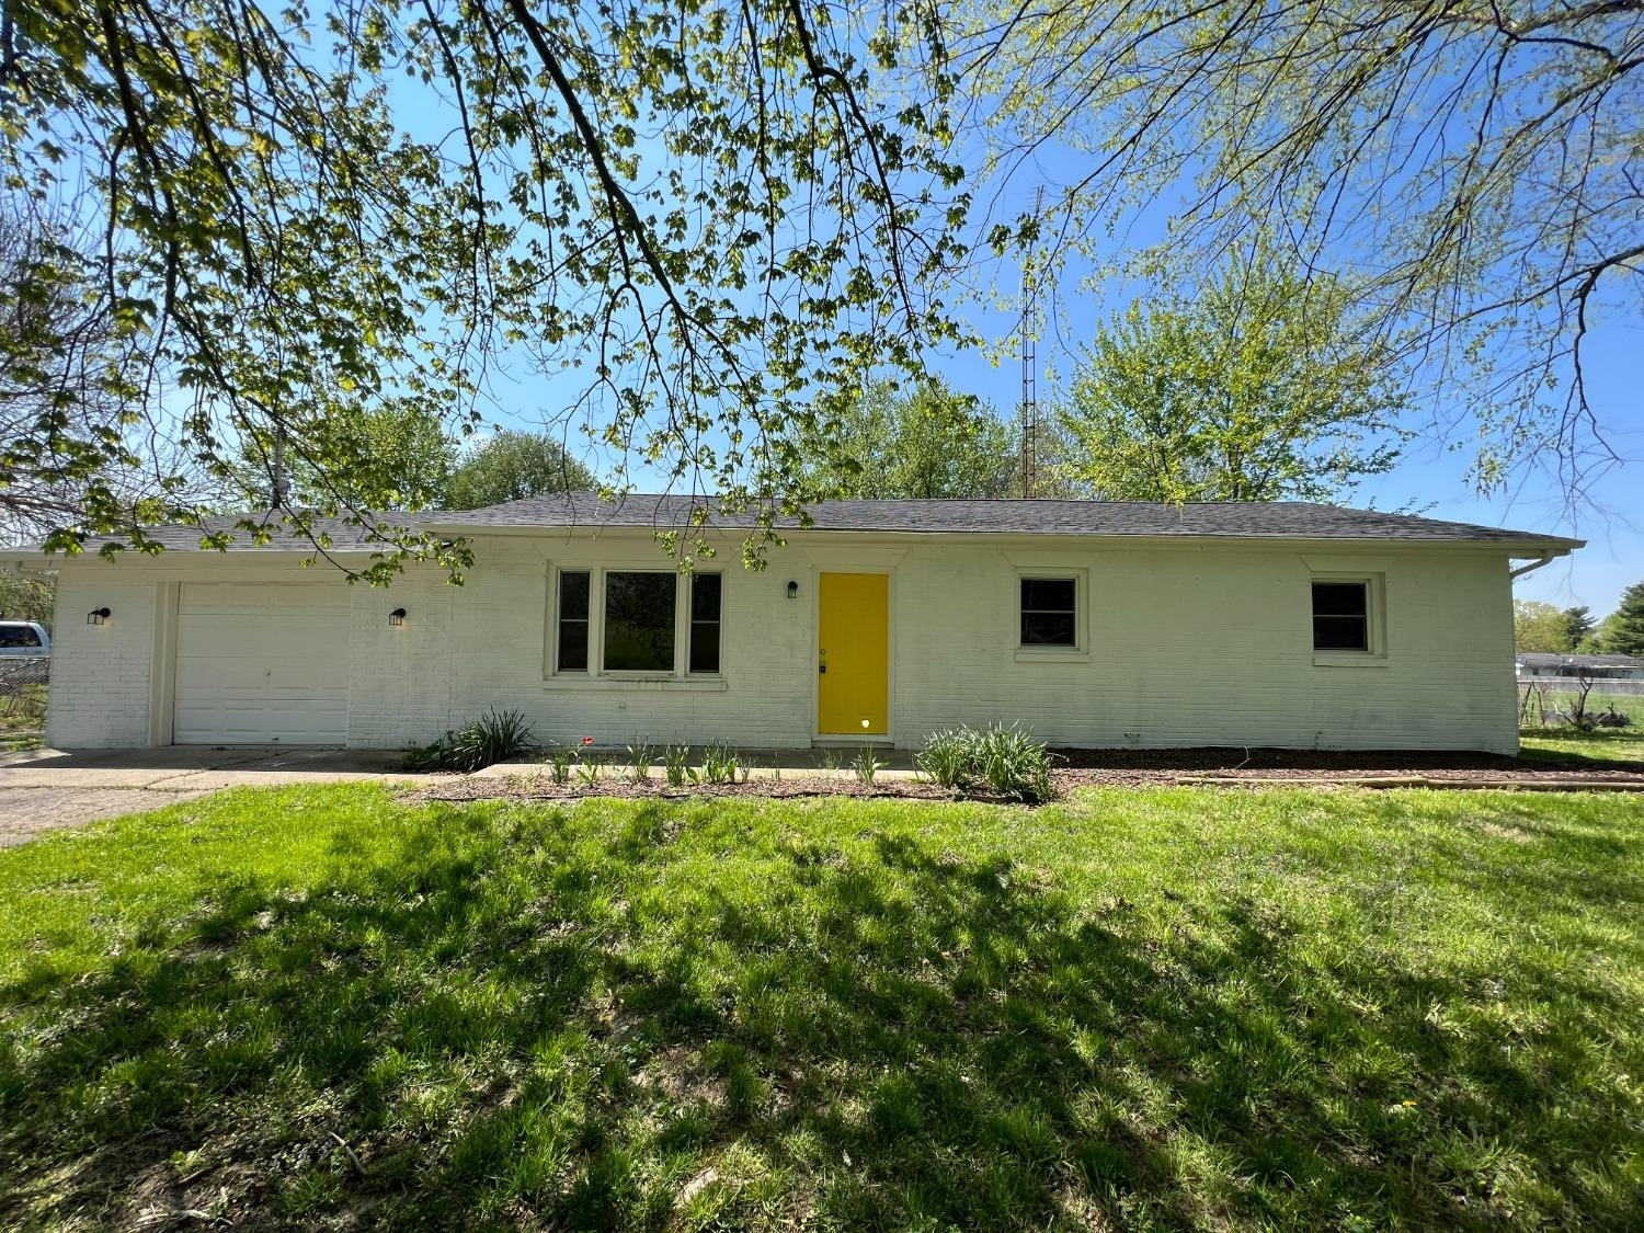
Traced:
<svg viewBox="0 0 1644 1233">
<path fill-rule="evenodd" d="M 1019 720 L 1059 745 L 1517 748 L 1511 585 L 1489 551 L 792 539 L 760 574 L 741 569 L 733 541 L 722 547 L 718 690 L 544 679 L 549 567 L 658 567 L 644 534 L 483 539 L 462 587 L 436 574 L 353 587 L 349 741 L 427 741 L 495 707 L 523 712 L 551 741 L 804 746 L 815 728 L 815 574 L 888 567 L 898 745 L 960 722 Z M 1386 574 L 1386 666 L 1314 663 L 1309 562 L 1320 557 Z M 1018 659 L 1018 566 L 1088 570 L 1085 658 Z M 146 574 L 278 579 L 291 566 L 253 554 L 66 562 L 54 743 L 146 738 L 156 592 L 135 580 Z M 115 620 L 84 626 L 100 603 Z M 403 628 L 388 626 L 395 607 L 408 612 Z"/>
</svg>

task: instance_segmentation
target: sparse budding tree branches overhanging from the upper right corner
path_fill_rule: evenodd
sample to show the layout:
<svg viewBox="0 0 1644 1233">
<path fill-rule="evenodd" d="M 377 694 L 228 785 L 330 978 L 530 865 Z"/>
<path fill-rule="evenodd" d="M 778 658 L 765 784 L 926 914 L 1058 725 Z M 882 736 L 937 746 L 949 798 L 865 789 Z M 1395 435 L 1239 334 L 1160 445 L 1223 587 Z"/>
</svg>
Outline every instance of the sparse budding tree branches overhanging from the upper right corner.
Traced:
<svg viewBox="0 0 1644 1233">
<path fill-rule="evenodd" d="M 1613 457 L 1595 450 L 1586 332 L 1644 260 L 1641 16 L 1637 0 L 983 0 L 947 48 L 986 100 L 965 132 L 991 179 L 977 201 L 1044 192 L 990 233 L 1042 284 L 1070 258 L 1149 283 L 1202 270 L 1282 220 L 1300 268 L 1355 270 L 1394 355 L 1473 413 L 1476 434 L 1435 431 L 1481 442 L 1481 483 L 1542 459 L 1578 482 Z M 1111 245 L 1161 209 L 1156 245 Z"/>
</svg>

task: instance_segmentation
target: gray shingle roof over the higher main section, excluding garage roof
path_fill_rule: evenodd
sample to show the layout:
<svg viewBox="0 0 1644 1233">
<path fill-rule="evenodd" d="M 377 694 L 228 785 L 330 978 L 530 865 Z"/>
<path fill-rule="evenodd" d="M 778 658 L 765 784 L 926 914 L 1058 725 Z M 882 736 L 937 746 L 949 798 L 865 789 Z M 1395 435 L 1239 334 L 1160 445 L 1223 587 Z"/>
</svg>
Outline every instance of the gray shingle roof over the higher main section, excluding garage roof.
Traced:
<svg viewBox="0 0 1644 1233">
<path fill-rule="evenodd" d="M 450 529 L 482 528 L 677 528 L 702 498 L 630 495 L 615 503 L 592 493 L 556 493 L 449 515 L 429 524 Z M 713 508 L 712 500 L 707 505 Z M 926 534 L 1062 534 L 1062 536 L 1225 536 L 1253 539 L 1422 539 L 1422 541 L 1537 541 L 1577 547 L 1534 531 L 1509 531 L 1470 523 L 1447 523 L 1412 515 L 1345 510 L 1305 501 L 1215 501 L 1161 505 L 1154 501 L 820 501 L 810 506 L 817 531 L 912 531 Z M 720 515 L 715 526 L 748 528 L 753 513 Z M 797 526 L 779 518 L 778 526 Z"/>
</svg>

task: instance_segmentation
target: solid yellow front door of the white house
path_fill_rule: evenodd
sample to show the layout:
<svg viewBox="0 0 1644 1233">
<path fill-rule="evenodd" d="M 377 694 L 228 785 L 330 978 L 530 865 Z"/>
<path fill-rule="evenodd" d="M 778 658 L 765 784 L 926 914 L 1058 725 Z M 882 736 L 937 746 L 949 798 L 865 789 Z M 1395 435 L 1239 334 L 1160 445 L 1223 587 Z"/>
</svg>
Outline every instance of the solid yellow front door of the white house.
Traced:
<svg viewBox="0 0 1644 1233">
<path fill-rule="evenodd" d="M 891 580 L 824 574 L 817 592 L 817 732 L 891 730 Z"/>
</svg>

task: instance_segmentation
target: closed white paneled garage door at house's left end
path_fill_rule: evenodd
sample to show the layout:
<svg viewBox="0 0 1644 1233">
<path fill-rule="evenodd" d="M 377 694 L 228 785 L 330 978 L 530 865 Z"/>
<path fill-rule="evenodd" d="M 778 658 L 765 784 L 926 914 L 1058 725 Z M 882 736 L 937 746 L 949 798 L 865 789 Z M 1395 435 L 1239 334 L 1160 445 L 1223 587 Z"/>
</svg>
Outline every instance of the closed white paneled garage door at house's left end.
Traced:
<svg viewBox="0 0 1644 1233">
<path fill-rule="evenodd" d="M 342 745 L 347 737 L 347 587 L 182 584 L 178 745 Z"/>
</svg>

